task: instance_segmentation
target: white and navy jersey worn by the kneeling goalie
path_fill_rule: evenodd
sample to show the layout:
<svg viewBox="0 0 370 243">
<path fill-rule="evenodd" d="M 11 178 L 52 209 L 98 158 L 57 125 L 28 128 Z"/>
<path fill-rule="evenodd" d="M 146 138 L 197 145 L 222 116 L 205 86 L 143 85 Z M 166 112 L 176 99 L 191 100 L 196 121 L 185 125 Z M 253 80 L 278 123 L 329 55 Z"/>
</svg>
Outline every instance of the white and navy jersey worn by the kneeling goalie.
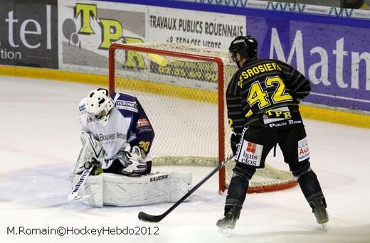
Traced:
<svg viewBox="0 0 370 243">
<path fill-rule="evenodd" d="M 86 112 L 86 99 L 79 104 L 80 130 L 90 132 L 94 138 L 100 141 L 105 151 L 105 160 L 102 168 L 108 168 L 115 156 L 124 145 L 139 146 L 147 155 L 154 139 L 154 131 L 147 115 L 135 97 L 125 94 L 113 94 L 115 107 L 110 110 L 109 121 L 105 126 L 98 122 L 95 117 Z"/>
</svg>

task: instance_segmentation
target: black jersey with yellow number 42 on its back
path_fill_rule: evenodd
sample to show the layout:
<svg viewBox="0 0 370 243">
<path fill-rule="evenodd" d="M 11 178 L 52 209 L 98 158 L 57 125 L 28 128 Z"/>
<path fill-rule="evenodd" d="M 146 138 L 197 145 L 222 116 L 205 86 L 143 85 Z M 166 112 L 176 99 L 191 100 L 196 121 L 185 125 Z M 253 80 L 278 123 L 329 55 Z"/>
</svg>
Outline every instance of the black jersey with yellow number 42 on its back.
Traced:
<svg viewBox="0 0 370 243">
<path fill-rule="evenodd" d="M 298 103 L 310 91 L 310 81 L 290 65 L 271 59 L 248 60 L 226 91 L 231 129 L 240 135 L 245 126 L 300 124 Z"/>
</svg>

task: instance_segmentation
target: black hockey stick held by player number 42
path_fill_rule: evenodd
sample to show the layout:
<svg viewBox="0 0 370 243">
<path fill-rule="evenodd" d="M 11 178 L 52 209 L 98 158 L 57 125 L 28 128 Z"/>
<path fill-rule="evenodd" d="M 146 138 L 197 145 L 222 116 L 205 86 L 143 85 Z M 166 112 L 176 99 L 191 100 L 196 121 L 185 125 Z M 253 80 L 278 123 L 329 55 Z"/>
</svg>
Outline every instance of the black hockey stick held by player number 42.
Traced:
<svg viewBox="0 0 370 243">
<path fill-rule="evenodd" d="M 223 166 L 225 166 L 226 163 L 231 160 L 231 158 L 233 158 L 233 156 L 228 156 L 216 168 L 214 168 L 213 171 L 208 173 L 208 175 L 206 175 L 206 177 L 203 178 L 203 180 L 199 181 L 198 184 L 194 185 L 194 187 L 191 188 L 191 190 L 189 190 L 189 192 L 186 193 L 180 200 L 175 202 L 175 204 L 172 205 L 168 210 L 166 210 L 166 212 L 162 213 L 162 215 L 148 215 L 145 212 L 139 212 L 139 215 L 137 215 L 137 217 L 139 217 L 139 220 L 147 221 L 147 222 L 159 222 L 163 220 L 164 217 L 166 217 L 170 212 L 172 212 L 172 210 L 174 210 L 177 206 L 179 206 L 181 202 L 184 202 L 186 198 L 189 198 L 189 195 L 193 194 L 198 188 L 200 188 L 201 185 L 203 185 L 203 183 L 205 183 L 209 178 L 212 177 L 212 175 L 214 175 L 217 171 L 223 168 Z"/>
</svg>

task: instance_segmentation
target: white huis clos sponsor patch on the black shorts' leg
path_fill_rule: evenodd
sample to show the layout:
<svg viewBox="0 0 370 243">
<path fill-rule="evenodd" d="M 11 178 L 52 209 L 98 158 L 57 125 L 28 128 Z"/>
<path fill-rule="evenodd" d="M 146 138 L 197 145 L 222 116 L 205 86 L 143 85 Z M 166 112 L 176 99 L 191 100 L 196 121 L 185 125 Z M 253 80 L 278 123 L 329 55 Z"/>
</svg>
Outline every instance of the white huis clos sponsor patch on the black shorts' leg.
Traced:
<svg viewBox="0 0 370 243">
<path fill-rule="evenodd" d="M 260 166 L 262 151 L 263 145 L 243 140 L 240 149 L 236 153 L 237 162 L 258 167 Z"/>
</svg>

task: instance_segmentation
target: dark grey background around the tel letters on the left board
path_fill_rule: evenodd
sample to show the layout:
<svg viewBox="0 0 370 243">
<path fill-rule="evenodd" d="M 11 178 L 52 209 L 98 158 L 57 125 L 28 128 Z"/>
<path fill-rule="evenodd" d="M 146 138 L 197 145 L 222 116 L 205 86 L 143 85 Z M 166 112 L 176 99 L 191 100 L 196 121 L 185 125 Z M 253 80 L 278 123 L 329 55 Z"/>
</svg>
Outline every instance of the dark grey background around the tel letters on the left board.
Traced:
<svg viewBox="0 0 370 243">
<path fill-rule="evenodd" d="M 51 50 L 47 50 L 46 44 L 46 5 L 51 5 Z M 58 68 L 58 0 L 0 0 L 0 52 L 20 52 L 21 59 L 9 60 L 1 58 L 0 64 L 22 65 L 38 68 Z M 13 23 L 14 43 L 19 45 L 14 48 L 9 43 L 9 22 L 6 22 L 9 11 L 13 11 L 13 18 L 18 23 Z M 26 34 L 26 41 L 30 45 L 41 45 L 36 49 L 27 48 L 21 42 L 20 29 L 23 21 L 36 20 L 41 26 L 41 35 Z M 33 23 L 28 23 L 27 31 L 36 31 Z"/>
</svg>

